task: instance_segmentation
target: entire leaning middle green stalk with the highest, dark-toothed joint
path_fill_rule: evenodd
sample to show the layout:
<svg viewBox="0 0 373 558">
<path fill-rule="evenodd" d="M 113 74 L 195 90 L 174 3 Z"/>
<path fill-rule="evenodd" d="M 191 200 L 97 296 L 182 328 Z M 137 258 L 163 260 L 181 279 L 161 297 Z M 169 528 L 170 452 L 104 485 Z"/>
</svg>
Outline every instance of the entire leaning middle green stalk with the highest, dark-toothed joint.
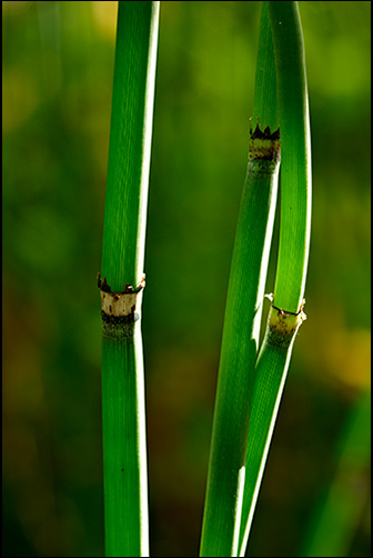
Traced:
<svg viewBox="0 0 373 558">
<path fill-rule="evenodd" d="M 275 68 L 268 13 L 261 26 L 254 117 L 276 128 Z M 268 58 L 269 54 L 269 58 Z M 264 70 L 263 70 L 264 69 Z M 266 94 L 264 93 L 266 92 Z M 268 96 L 272 102 L 268 103 Z M 235 556 L 239 544 L 249 409 L 280 165 L 279 132 L 256 126 L 249 142 L 225 306 L 201 556 Z"/>
</svg>

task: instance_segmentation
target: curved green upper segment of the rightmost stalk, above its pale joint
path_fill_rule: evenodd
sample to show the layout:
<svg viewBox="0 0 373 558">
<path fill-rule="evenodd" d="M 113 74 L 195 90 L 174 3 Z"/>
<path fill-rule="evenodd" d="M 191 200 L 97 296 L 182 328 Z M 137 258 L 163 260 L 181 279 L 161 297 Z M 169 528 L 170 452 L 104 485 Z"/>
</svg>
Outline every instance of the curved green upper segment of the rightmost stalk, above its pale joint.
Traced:
<svg viewBox="0 0 373 558">
<path fill-rule="evenodd" d="M 311 139 L 304 46 L 296 2 L 268 2 L 281 128 L 281 227 L 274 305 L 298 312 L 311 231 Z"/>
</svg>

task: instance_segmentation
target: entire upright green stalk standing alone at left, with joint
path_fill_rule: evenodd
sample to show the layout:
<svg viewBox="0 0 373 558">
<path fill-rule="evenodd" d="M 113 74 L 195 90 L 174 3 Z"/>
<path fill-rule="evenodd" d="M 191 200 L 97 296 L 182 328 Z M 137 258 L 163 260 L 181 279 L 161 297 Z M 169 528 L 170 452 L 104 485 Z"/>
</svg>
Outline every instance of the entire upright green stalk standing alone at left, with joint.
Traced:
<svg viewBox="0 0 373 558">
<path fill-rule="evenodd" d="M 141 339 L 159 2 L 119 2 L 99 287 L 105 555 L 149 556 Z"/>
</svg>

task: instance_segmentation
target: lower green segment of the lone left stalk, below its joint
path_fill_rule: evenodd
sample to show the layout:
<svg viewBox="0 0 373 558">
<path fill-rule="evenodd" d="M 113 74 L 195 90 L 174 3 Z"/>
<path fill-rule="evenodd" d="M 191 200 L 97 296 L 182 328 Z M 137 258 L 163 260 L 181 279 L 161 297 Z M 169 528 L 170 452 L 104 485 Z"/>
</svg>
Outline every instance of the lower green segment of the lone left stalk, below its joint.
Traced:
<svg viewBox="0 0 373 558">
<path fill-rule="evenodd" d="M 143 355 L 133 338 L 102 340 L 105 556 L 149 556 Z"/>
</svg>

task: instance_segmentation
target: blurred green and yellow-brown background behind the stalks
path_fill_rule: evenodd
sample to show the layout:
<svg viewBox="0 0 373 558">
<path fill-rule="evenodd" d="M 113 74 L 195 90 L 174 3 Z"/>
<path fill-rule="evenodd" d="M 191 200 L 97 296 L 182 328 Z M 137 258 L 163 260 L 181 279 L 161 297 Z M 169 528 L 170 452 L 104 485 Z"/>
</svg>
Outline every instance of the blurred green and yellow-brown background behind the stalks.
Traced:
<svg viewBox="0 0 373 558">
<path fill-rule="evenodd" d="M 260 4 L 161 4 L 143 305 L 152 556 L 199 549 Z M 300 11 L 313 149 L 308 321 L 248 556 L 364 557 L 371 2 Z M 2 17 L 3 556 L 102 556 L 95 276 L 117 2 L 2 2 Z"/>
</svg>

